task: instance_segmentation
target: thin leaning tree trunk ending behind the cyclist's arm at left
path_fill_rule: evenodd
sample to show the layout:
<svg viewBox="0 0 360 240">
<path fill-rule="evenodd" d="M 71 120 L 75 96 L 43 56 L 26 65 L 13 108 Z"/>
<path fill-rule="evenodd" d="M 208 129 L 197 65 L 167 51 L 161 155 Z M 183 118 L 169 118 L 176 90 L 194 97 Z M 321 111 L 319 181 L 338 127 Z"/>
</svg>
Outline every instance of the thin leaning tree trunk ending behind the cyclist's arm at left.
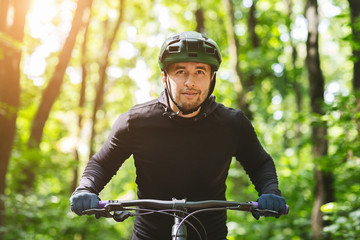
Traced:
<svg viewBox="0 0 360 240">
<path fill-rule="evenodd" d="M 119 31 L 120 25 L 123 21 L 124 1 L 125 0 L 120 1 L 119 18 L 117 19 L 114 29 L 111 30 L 111 32 L 112 32 L 111 37 L 105 38 L 104 48 L 102 50 L 103 54 L 100 58 L 100 64 L 99 64 L 100 65 L 100 79 L 99 79 L 99 84 L 98 84 L 97 90 L 96 90 L 96 97 L 95 97 L 95 103 L 94 103 L 94 109 L 93 109 L 93 115 L 92 115 L 93 125 L 92 125 L 92 129 L 91 129 L 90 144 L 89 144 L 90 145 L 89 158 L 91 158 L 95 152 L 93 146 L 94 146 L 94 139 L 95 139 L 96 113 L 100 109 L 100 107 L 103 103 L 104 89 L 105 89 L 105 82 L 106 82 L 106 68 L 107 68 L 108 62 L 109 62 L 109 53 L 111 50 L 111 46 L 115 40 L 116 34 Z M 107 34 L 105 34 L 105 35 L 107 35 Z"/>
</svg>

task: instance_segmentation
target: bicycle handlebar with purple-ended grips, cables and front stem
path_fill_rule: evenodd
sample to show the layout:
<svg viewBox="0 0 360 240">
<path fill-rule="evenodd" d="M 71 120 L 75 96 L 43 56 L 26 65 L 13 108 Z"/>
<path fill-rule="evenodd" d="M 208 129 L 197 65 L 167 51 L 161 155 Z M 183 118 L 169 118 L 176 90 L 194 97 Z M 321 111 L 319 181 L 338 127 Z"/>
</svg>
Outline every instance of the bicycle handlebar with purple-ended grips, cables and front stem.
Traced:
<svg viewBox="0 0 360 240">
<path fill-rule="evenodd" d="M 139 208 L 141 207 L 141 208 Z M 137 210 L 137 213 L 133 211 Z M 189 212 L 193 210 L 192 212 Z M 289 213 L 289 206 L 282 214 L 276 211 L 259 209 L 257 202 L 233 202 L 225 200 L 205 200 L 205 201 L 187 201 L 186 199 L 172 200 L 155 200 L 155 199 L 138 199 L 138 200 L 107 200 L 100 201 L 99 207 L 83 211 L 83 214 L 93 215 L 97 218 L 99 216 L 106 218 L 113 218 L 115 221 L 122 222 L 126 218 L 136 216 L 138 214 L 153 214 L 161 213 L 174 217 L 174 225 L 172 226 L 172 240 L 186 240 L 187 239 L 187 223 L 192 227 L 199 239 L 207 239 L 207 234 L 204 226 L 194 215 L 206 211 L 220 211 L 220 210 L 238 210 L 246 212 L 257 212 L 264 217 L 279 217 L 280 215 L 287 215 Z M 199 222 L 203 232 L 202 237 L 199 229 L 191 224 L 188 219 L 192 217 Z"/>
</svg>

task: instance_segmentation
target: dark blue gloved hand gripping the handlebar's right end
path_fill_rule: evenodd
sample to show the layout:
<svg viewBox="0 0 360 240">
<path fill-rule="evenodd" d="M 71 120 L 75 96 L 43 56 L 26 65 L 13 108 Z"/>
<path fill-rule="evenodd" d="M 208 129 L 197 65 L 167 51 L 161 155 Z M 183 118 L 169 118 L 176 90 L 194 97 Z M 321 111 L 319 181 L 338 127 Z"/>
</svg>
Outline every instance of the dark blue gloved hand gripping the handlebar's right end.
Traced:
<svg viewBox="0 0 360 240">
<path fill-rule="evenodd" d="M 279 215 L 277 218 L 279 218 L 286 209 L 285 198 L 275 194 L 263 194 L 258 198 L 257 202 L 259 204 L 259 209 L 268 209 L 278 212 Z M 253 216 L 256 220 L 260 218 L 260 214 L 257 212 L 253 212 Z"/>
</svg>

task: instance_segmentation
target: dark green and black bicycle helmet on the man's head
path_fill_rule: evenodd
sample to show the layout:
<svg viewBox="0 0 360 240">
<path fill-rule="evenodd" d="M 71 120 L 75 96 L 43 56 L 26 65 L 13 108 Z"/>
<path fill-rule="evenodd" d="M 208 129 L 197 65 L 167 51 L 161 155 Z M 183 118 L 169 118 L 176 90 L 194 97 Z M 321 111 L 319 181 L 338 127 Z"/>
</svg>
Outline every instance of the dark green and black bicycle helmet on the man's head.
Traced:
<svg viewBox="0 0 360 240">
<path fill-rule="evenodd" d="M 205 34 L 183 32 L 166 39 L 160 50 L 159 65 L 162 71 L 177 62 L 207 63 L 217 71 L 221 54 L 216 42 Z"/>
</svg>

